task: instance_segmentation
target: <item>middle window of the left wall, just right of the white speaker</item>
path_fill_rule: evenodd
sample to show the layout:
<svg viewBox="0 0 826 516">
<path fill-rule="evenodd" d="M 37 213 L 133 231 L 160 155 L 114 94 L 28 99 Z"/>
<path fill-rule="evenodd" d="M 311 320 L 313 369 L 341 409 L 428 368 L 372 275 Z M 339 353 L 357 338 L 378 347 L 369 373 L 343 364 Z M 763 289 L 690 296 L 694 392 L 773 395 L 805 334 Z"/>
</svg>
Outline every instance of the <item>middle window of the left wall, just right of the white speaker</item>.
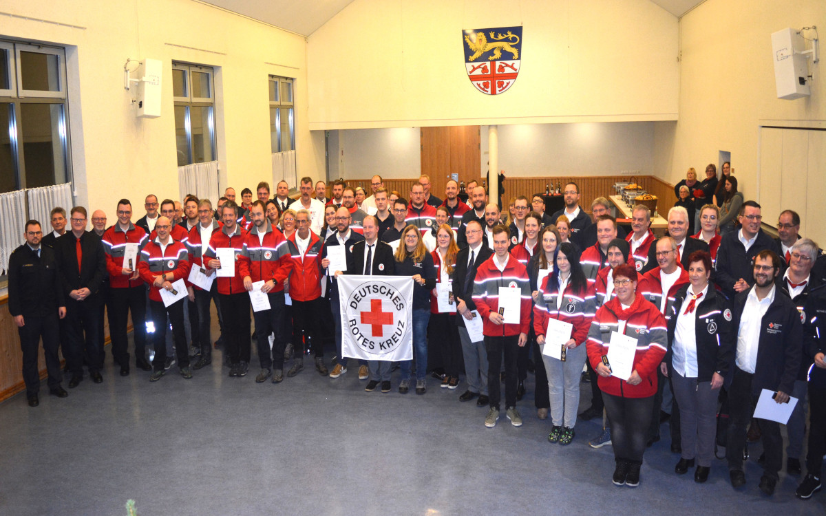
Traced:
<svg viewBox="0 0 826 516">
<path fill-rule="evenodd" d="M 216 159 L 213 79 L 209 67 L 172 64 L 178 167 Z"/>
</svg>

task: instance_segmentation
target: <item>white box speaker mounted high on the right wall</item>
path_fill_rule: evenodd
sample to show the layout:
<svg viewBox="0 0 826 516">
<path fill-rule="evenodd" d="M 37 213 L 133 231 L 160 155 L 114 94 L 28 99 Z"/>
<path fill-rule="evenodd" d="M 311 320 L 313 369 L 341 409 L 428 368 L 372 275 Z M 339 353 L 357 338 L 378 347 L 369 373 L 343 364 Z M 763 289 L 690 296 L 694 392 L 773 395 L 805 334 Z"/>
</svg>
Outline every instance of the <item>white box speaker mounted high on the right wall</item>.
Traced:
<svg viewBox="0 0 826 516">
<path fill-rule="evenodd" d="M 803 37 L 795 29 L 783 29 L 771 35 L 771 50 L 775 64 L 777 98 L 792 100 L 809 97 L 809 65 Z"/>
</svg>

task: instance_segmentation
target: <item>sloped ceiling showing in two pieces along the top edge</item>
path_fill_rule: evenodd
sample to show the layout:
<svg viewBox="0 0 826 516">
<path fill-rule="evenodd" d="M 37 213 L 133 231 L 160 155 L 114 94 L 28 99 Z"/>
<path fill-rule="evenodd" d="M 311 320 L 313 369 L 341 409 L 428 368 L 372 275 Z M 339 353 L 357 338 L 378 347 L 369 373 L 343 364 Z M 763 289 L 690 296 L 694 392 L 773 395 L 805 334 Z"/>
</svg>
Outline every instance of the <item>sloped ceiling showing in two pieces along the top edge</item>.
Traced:
<svg viewBox="0 0 826 516">
<path fill-rule="evenodd" d="M 201 0 L 199 0 L 201 1 Z M 353 0 L 202 0 L 227 11 L 263 21 L 301 36 L 310 36 Z M 705 0 L 650 0 L 681 17 Z"/>
</svg>

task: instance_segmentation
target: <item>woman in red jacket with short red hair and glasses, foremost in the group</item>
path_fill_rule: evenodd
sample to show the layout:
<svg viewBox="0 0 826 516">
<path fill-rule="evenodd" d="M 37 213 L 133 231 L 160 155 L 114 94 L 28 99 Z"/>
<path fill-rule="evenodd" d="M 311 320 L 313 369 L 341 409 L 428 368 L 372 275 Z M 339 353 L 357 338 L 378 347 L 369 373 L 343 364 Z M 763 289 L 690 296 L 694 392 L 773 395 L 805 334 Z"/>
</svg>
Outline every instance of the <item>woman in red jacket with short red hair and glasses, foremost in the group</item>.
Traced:
<svg viewBox="0 0 826 516">
<path fill-rule="evenodd" d="M 648 439 L 657 367 L 666 354 L 666 321 L 637 292 L 637 271 L 614 269 L 616 297 L 596 311 L 588 333 L 588 360 L 611 422 L 615 485 L 639 485 L 639 468 Z"/>
</svg>

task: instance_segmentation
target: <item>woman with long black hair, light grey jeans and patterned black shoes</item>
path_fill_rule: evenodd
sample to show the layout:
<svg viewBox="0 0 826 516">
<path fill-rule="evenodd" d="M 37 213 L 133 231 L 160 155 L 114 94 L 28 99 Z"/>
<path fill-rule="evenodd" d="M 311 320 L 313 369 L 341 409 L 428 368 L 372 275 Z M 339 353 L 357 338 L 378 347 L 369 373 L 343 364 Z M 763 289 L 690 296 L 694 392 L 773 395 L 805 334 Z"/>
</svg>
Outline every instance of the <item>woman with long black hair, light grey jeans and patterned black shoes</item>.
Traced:
<svg viewBox="0 0 826 516">
<path fill-rule="evenodd" d="M 554 233 L 555 229 L 544 232 Z M 534 332 L 536 342 L 542 346 L 548 373 L 553 423 L 548 442 L 565 445 L 572 442 L 577 424 L 579 380 L 587 357 L 582 344 L 591 327 L 594 291 L 582 272 L 579 253 L 573 244 L 566 242 L 553 254 L 557 265 L 542 282 L 541 299 L 534 307 Z"/>
</svg>

